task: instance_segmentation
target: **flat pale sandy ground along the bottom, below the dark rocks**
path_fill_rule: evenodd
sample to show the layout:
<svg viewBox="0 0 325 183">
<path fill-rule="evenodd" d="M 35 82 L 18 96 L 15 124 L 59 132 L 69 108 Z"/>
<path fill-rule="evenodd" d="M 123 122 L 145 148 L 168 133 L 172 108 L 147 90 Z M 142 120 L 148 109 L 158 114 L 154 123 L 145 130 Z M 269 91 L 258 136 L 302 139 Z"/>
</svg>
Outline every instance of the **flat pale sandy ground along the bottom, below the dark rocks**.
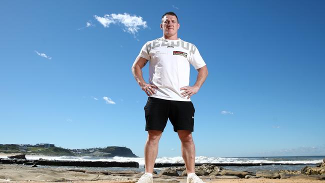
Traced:
<svg viewBox="0 0 325 183">
<path fill-rule="evenodd" d="M 109 175 L 105 175 L 105 172 L 99 171 L 70 171 L 68 169 L 60 168 L 39 168 L 29 167 L 26 165 L 18 164 L 0 164 L 0 182 L 135 182 L 137 178 L 142 174 L 141 172 L 135 173 L 129 172 L 114 172 Z M 209 176 L 200 176 L 204 182 L 219 182 L 219 183 L 234 183 L 234 182 L 247 182 L 247 183 L 275 183 L 275 182 L 324 182 L 324 180 L 312 180 L 304 178 L 296 179 L 268 179 L 268 178 L 257 178 L 257 179 L 214 179 Z M 154 182 L 167 182 L 177 183 L 186 182 L 185 176 L 165 176 L 156 175 L 153 176 Z"/>
</svg>

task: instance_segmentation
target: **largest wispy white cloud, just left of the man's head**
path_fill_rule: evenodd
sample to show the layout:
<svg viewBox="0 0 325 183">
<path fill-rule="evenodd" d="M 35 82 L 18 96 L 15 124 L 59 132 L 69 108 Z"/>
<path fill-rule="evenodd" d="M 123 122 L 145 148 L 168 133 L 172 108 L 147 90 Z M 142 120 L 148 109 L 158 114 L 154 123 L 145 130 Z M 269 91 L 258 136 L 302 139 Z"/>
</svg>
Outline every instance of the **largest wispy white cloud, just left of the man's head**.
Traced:
<svg viewBox="0 0 325 183">
<path fill-rule="evenodd" d="M 142 20 L 141 16 L 136 15 L 130 15 L 126 12 L 124 14 L 105 14 L 103 17 L 94 15 L 97 21 L 99 21 L 104 27 L 109 27 L 109 24 L 113 23 L 121 23 L 123 26 L 123 31 L 126 31 L 133 36 L 135 36 L 135 33 L 140 29 L 142 26 L 143 28 L 146 28 L 146 21 Z"/>
</svg>

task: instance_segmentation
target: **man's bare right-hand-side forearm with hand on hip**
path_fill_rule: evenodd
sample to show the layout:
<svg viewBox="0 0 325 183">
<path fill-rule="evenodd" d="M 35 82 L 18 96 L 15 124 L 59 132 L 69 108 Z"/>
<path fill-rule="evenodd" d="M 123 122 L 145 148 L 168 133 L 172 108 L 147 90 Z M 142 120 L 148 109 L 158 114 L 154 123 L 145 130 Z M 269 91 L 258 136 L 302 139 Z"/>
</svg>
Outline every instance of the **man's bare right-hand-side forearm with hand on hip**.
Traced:
<svg viewBox="0 0 325 183">
<path fill-rule="evenodd" d="M 202 86 L 203 82 L 207 77 L 207 67 L 206 65 L 201 68 L 196 69 L 198 71 L 195 84 L 193 86 L 184 86 L 180 90 L 184 90 L 180 93 L 183 97 L 187 96 L 187 99 L 190 98 L 193 94 L 197 93 L 199 88 Z"/>
</svg>

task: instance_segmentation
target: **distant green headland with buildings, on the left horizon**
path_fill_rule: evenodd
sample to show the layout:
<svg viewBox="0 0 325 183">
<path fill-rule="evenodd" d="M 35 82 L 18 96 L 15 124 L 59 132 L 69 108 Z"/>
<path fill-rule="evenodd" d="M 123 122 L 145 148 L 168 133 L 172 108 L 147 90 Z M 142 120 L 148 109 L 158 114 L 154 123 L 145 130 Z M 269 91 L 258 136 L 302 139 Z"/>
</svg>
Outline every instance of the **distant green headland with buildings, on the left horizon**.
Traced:
<svg viewBox="0 0 325 183">
<path fill-rule="evenodd" d="M 41 154 L 50 156 L 97 156 L 97 157 L 137 157 L 131 149 L 120 146 L 93 147 L 82 149 L 67 149 L 62 147 L 39 147 L 30 144 L 0 144 L 0 152 Z"/>
</svg>

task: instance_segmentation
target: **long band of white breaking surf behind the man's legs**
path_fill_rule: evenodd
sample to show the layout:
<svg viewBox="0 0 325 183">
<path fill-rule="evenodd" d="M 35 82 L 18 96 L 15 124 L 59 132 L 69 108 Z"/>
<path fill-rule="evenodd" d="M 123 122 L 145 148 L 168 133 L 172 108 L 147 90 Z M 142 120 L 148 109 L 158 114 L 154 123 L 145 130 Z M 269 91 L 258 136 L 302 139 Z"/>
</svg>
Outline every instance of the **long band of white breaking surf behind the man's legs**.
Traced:
<svg viewBox="0 0 325 183">
<path fill-rule="evenodd" d="M 6 156 L 0 158 L 7 158 Z M 77 161 L 136 161 L 139 165 L 144 165 L 144 157 L 92 157 L 92 156 L 44 156 L 44 155 L 28 155 L 27 159 L 50 159 L 50 160 L 77 160 Z M 184 163 L 181 156 L 175 157 L 157 157 L 155 162 L 160 163 Z M 196 163 L 303 163 L 315 164 L 322 162 L 322 158 L 290 158 L 290 157 L 208 157 L 196 156 Z"/>
</svg>

